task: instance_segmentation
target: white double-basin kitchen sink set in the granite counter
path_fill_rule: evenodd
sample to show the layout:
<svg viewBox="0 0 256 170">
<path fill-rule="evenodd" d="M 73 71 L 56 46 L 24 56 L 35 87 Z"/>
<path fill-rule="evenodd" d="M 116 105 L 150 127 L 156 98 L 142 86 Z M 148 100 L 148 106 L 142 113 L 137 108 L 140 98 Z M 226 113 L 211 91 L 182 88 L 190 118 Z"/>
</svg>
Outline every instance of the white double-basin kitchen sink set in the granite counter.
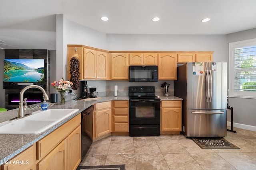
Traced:
<svg viewBox="0 0 256 170">
<path fill-rule="evenodd" d="M 0 134 L 38 134 L 66 119 L 78 109 L 48 109 L 32 115 L 0 123 Z"/>
</svg>

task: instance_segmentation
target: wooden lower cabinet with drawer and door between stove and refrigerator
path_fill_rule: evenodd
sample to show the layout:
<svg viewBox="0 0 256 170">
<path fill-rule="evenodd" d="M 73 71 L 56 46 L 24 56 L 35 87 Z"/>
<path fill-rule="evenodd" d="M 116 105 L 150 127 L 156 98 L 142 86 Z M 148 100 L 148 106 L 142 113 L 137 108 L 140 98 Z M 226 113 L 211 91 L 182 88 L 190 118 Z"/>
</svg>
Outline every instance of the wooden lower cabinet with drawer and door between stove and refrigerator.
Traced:
<svg viewBox="0 0 256 170">
<path fill-rule="evenodd" d="M 161 101 L 161 133 L 182 131 L 182 101 Z"/>
</svg>

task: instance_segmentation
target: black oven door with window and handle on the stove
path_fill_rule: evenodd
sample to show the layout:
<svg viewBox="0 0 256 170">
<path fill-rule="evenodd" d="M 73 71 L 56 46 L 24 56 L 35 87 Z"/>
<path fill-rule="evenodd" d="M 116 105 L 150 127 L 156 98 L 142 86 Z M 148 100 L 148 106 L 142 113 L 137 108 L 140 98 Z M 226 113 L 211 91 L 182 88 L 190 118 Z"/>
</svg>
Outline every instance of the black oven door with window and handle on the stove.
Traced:
<svg viewBox="0 0 256 170">
<path fill-rule="evenodd" d="M 130 100 L 130 125 L 160 125 L 160 101 Z"/>
</svg>

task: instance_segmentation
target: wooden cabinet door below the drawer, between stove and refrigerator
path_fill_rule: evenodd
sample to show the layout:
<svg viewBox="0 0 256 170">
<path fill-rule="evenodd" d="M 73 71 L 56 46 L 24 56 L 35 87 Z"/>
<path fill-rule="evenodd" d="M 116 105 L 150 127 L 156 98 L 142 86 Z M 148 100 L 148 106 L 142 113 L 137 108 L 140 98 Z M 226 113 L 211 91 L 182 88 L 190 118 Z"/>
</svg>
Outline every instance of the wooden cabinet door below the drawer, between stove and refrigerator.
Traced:
<svg viewBox="0 0 256 170">
<path fill-rule="evenodd" d="M 181 131 L 181 108 L 161 109 L 161 131 Z"/>
</svg>

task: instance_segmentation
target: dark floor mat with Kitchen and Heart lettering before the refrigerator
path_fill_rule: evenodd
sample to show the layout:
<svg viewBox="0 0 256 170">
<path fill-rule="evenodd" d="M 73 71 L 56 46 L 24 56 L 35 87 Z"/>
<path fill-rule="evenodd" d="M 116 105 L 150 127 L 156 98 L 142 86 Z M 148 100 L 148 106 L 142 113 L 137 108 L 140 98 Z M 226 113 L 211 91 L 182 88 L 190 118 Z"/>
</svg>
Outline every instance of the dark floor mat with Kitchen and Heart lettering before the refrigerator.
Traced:
<svg viewBox="0 0 256 170">
<path fill-rule="evenodd" d="M 224 138 L 192 138 L 201 149 L 240 149 Z"/>
</svg>

